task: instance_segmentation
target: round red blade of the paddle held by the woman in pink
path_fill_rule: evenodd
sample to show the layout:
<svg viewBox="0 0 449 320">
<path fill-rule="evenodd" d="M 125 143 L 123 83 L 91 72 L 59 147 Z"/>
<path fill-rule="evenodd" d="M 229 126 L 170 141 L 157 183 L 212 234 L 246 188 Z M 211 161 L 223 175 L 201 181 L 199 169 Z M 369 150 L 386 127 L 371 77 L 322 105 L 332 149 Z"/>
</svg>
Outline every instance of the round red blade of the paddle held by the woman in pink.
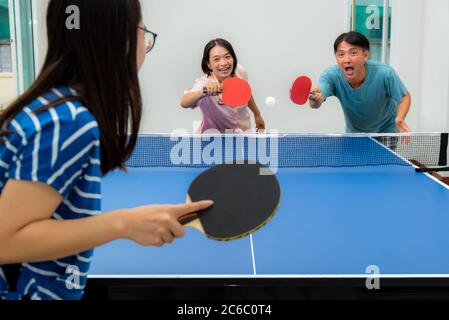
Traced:
<svg viewBox="0 0 449 320">
<path fill-rule="evenodd" d="M 227 78 L 221 87 L 221 100 L 230 107 L 247 105 L 253 96 L 251 86 L 237 77 Z"/>
</svg>

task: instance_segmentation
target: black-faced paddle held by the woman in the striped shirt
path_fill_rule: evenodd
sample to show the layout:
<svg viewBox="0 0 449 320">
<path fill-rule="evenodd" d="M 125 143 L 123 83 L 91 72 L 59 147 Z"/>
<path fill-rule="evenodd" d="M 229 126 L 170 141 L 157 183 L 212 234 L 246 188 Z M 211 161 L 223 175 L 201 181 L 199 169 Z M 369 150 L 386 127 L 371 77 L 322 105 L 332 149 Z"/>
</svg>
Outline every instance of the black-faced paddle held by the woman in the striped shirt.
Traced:
<svg viewBox="0 0 449 320">
<path fill-rule="evenodd" d="M 190 185 L 187 201 L 208 199 L 214 205 L 179 222 L 219 241 L 255 232 L 273 217 L 281 196 L 276 176 L 267 170 L 254 163 L 222 164 L 204 171 Z"/>
</svg>

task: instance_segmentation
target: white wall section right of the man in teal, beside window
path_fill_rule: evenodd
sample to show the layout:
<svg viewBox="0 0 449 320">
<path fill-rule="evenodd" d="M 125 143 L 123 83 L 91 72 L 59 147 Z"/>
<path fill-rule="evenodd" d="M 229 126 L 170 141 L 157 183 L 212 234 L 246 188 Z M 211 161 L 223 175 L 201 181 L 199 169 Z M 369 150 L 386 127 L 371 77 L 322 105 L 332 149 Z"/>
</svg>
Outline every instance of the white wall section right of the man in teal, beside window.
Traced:
<svg viewBox="0 0 449 320">
<path fill-rule="evenodd" d="M 449 128 L 449 1 L 393 0 L 391 65 L 412 94 L 414 131 Z"/>
</svg>

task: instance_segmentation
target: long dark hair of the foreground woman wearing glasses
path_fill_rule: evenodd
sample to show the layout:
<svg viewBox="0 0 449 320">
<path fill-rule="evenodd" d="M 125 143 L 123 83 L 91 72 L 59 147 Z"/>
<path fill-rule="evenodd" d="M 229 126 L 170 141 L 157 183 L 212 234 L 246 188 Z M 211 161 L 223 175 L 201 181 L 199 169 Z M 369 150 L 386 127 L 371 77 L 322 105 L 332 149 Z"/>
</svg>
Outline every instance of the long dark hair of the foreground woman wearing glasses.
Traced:
<svg viewBox="0 0 449 320">
<path fill-rule="evenodd" d="M 66 26 L 70 6 L 79 9 L 78 29 Z M 59 85 L 73 86 L 79 97 L 58 99 L 36 113 L 66 101 L 81 101 L 99 125 L 102 173 L 124 169 L 142 116 L 136 61 L 141 20 L 139 0 L 51 0 L 42 71 L 0 116 L 1 134 L 8 134 L 12 119 L 41 94 Z"/>
</svg>

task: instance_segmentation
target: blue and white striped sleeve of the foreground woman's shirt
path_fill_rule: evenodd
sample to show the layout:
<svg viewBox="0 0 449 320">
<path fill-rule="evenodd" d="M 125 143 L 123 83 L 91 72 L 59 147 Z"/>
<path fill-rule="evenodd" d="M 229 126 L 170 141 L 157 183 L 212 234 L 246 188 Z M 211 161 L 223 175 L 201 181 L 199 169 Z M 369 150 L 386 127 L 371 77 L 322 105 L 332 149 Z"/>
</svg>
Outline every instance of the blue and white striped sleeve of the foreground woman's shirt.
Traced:
<svg viewBox="0 0 449 320">
<path fill-rule="evenodd" d="M 66 198 L 82 177 L 99 143 L 92 134 L 96 123 L 79 124 L 42 123 L 20 147 L 8 170 L 9 178 L 45 183 Z"/>
</svg>

